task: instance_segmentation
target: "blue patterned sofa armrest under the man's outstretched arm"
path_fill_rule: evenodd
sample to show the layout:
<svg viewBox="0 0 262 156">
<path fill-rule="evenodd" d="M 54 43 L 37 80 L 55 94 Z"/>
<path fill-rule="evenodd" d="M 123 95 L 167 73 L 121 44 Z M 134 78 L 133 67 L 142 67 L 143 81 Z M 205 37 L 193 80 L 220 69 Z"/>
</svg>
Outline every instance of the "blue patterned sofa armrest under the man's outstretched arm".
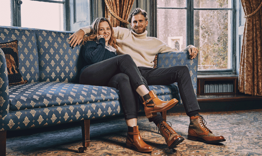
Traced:
<svg viewBox="0 0 262 156">
<path fill-rule="evenodd" d="M 188 67 L 196 95 L 198 55 L 195 59 L 191 60 L 188 52 L 168 52 L 158 54 L 157 67 L 171 67 L 175 65 L 186 65 Z"/>
</svg>

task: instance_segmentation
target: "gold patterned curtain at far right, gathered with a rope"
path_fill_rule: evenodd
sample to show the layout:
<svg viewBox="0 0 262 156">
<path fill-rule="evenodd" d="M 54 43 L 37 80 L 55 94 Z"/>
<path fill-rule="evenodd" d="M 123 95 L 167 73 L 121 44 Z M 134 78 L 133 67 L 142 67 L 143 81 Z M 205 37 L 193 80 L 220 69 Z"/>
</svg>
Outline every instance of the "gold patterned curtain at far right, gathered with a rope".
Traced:
<svg viewBox="0 0 262 156">
<path fill-rule="evenodd" d="M 239 65 L 240 92 L 262 95 L 262 0 L 241 0 L 245 26 Z"/>
</svg>

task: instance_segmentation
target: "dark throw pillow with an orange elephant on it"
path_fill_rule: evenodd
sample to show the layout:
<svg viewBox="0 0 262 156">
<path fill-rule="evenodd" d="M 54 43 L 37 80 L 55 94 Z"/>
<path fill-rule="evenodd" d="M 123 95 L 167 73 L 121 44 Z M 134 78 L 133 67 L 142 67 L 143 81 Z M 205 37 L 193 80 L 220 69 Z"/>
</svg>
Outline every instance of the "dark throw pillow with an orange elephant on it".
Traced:
<svg viewBox="0 0 262 156">
<path fill-rule="evenodd" d="M 0 43 L 0 48 L 3 50 L 6 57 L 6 66 L 8 74 L 9 86 L 27 83 L 19 71 L 19 57 L 17 40 Z"/>
</svg>

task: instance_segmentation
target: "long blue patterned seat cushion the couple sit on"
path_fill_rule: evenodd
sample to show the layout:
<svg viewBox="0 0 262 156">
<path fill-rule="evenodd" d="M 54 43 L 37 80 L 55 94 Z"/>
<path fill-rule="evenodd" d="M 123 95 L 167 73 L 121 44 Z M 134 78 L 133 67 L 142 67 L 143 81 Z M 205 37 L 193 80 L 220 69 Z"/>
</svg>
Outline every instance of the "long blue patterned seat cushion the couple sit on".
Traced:
<svg viewBox="0 0 262 156">
<path fill-rule="evenodd" d="M 162 100 L 170 100 L 177 95 L 174 85 L 149 86 Z M 115 88 L 90 86 L 64 82 L 37 82 L 11 86 L 9 88 L 10 111 L 48 108 L 118 101 L 119 92 Z"/>
</svg>

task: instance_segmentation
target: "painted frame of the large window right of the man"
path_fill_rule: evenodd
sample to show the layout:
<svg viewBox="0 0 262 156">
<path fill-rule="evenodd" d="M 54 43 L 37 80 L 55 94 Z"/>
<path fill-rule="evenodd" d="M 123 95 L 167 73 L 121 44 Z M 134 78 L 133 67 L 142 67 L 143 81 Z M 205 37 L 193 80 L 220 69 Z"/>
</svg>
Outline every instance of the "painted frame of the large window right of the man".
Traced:
<svg viewBox="0 0 262 156">
<path fill-rule="evenodd" d="M 155 3 L 154 9 L 157 12 L 157 9 L 186 9 L 186 45 L 194 45 L 194 11 L 195 10 L 230 10 L 231 13 L 231 69 L 220 69 L 220 70 L 203 70 L 199 71 L 199 75 L 217 75 L 217 74 L 236 74 L 236 2 L 231 0 L 231 8 L 194 8 L 193 0 L 186 0 L 186 7 L 157 7 L 157 0 L 153 1 Z M 157 15 L 156 15 L 157 16 Z M 154 22 L 154 27 L 156 30 L 157 20 Z M 200 52 L 201 53 L 201 52 Z"/>
</svg>

